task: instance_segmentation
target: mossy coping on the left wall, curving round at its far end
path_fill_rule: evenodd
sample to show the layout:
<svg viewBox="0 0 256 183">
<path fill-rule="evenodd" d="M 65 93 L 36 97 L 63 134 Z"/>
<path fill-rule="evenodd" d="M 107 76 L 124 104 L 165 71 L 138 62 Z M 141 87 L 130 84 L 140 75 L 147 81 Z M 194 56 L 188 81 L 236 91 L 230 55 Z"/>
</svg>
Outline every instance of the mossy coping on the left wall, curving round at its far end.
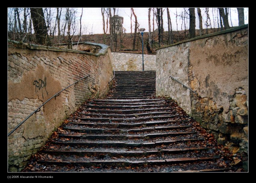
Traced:
<svg viewBox="0 0 256 183">
<path fill-rule="evenodd" d="M 105 55 L 108 52 L 108 48 L 110 48 L 108 45 L 100 44 L 100 43 L 92 43 L 92 42 L 81 42 L 81 43 L 79 43 L 79 44 L 89 44 L 89 45 L 101 47 L 101 50 L 99 50 L 98 53 L 90 53 L 90 52 L 86 52 L 86 51 L 71 50 L 71 49 L 67 49 L 67 48 L 58 48 L 58 47 L 42 46 L 42 45 L 37 45 L 37 44 L 22 43 L 22 42 L 10 40 L 10 39 L 8 39 L 8 44 L 12 44 L 12 46 L 18 47 L 18 48 L 82 53 L 82 54 L 94 55 L 94 56 Z M 61 45 L 61 44 L 59 44 L 59 45 Z M 65 45 L 65 44 L 62 44 L 62 45 Z"/>
</svg>

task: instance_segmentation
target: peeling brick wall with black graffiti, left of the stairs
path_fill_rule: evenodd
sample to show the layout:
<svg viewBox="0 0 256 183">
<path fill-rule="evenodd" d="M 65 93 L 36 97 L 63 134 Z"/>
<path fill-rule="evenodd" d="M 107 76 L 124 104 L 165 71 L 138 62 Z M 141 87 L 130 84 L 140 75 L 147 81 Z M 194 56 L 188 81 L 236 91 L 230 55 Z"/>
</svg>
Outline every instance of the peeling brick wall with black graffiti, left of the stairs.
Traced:
<svg viewBox="0 0 256 183">
<path fill-rule="evenodd" d="M 8 41 L 8 133 L 47 99 L 89 75 L 46 103 L 8 137 L 8 169 L 20 171 L 80 104 L 104 97 L 113 76 L 111 51 L 99 53 Z"/>
</svg>

